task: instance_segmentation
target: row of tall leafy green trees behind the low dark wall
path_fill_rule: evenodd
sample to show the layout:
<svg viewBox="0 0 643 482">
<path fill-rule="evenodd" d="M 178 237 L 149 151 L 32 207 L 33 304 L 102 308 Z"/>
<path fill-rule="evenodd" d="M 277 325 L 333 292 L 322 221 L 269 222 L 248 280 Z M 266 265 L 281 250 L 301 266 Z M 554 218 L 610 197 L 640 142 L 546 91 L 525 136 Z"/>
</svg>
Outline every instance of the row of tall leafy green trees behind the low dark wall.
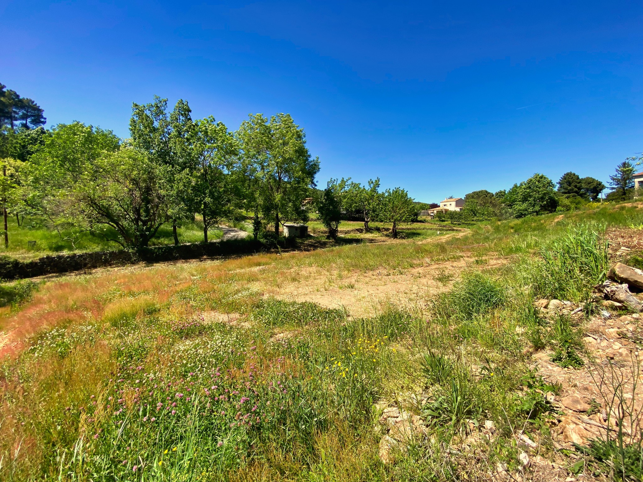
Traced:
<svg viewBox="0 0 643 482">
<path fill-rule="evenodd" d="M 187 102 L 133 104 L 129 139 L 80 122 L 53 129 L 3 121 L 0 198 L 5 216 L 46 220 L 142 249 L 165 223 L 254 215 L 255 237 L 284 219 L 308 217 L 319 160 L 289 114 L 251 114 L 230 131 L 212 116 L 194 120 Z"/>
</svg>

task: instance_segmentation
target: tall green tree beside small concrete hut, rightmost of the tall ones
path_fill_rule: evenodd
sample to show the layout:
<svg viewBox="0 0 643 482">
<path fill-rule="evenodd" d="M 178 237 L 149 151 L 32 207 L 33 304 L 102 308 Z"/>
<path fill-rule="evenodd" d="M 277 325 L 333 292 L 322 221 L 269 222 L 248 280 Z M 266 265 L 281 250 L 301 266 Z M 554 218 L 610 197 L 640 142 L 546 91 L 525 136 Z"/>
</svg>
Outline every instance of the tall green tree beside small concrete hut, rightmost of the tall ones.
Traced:
<svg viewBox="0 0 643 482">
<path fill-rule="evenodd" d="M 243 172 L 255 190 L 255 211 L 273 220 L 275 235 L 282 220 L 307 220 L 305 201 L 316 185 L 314 177 L 320 165 L 306 147 L 303 129 L 289 114 L 276 114 L 269 120 L 262 114 L 251 114 L 237 136 Z"/>
</svg>

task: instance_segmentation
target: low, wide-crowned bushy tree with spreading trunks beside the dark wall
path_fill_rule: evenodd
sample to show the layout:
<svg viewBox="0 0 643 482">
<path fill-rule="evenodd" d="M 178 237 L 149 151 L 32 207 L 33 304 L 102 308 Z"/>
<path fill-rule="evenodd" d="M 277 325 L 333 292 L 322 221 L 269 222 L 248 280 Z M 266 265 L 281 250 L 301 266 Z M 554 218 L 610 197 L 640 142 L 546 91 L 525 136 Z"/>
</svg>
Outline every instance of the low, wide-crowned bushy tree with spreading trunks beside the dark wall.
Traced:
<svg viewBox="0 0 643 482">
<path fill-rule="evenodd" d="M 92 232 L 107 224 L 118 232 L 113 241 L 141 251 L 167 217 L 160 170 L 135 148 L 105 153 L 75 185 L 66 206 L 69 219 Z"/>
</svg>

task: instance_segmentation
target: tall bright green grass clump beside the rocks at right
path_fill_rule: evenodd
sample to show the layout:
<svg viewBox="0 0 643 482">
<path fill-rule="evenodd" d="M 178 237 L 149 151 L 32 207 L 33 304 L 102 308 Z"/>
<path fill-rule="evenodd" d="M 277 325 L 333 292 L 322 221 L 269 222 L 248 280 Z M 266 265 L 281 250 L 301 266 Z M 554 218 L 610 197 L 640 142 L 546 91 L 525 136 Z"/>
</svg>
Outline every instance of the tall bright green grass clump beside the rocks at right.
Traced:
<svg viewBox="0 0 643 482">
<path fill-rule="evenodd" d="M 605 226 L 581 224 L 541 247 L 541 269 L 533 273 L 533 285 L 541 296 L 581 301 L 604 281 L 608 243 L 601 240 Z"/>
</svg>

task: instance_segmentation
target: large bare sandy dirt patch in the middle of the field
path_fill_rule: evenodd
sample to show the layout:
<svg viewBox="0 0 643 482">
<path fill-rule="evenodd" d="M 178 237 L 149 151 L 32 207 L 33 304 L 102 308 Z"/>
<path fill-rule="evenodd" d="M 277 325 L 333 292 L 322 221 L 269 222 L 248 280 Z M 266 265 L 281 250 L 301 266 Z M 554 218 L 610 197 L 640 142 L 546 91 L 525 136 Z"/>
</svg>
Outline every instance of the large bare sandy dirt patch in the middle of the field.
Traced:
<svg viewBox="0 0 643 482">
<path fill-rule="evenodd" d="M 429 296 L 451 289 L 453 281 L 465 269 L 472 267 L 473 258 L 433 263 L 388 272 L 352 272 L 341 279 L 320 268 L 294 269 L 284 276 L 279 287 L 265 287 L 267 295 L 287 301 L 312 301 L 326 308 L 346 308 L 350 316 L 373 316 L 381 307 L 393 304 L 400 307 L 424 305 Z M 505 265 L 509 258 L 487 260 L 482 269 Z"/>
</svg>

